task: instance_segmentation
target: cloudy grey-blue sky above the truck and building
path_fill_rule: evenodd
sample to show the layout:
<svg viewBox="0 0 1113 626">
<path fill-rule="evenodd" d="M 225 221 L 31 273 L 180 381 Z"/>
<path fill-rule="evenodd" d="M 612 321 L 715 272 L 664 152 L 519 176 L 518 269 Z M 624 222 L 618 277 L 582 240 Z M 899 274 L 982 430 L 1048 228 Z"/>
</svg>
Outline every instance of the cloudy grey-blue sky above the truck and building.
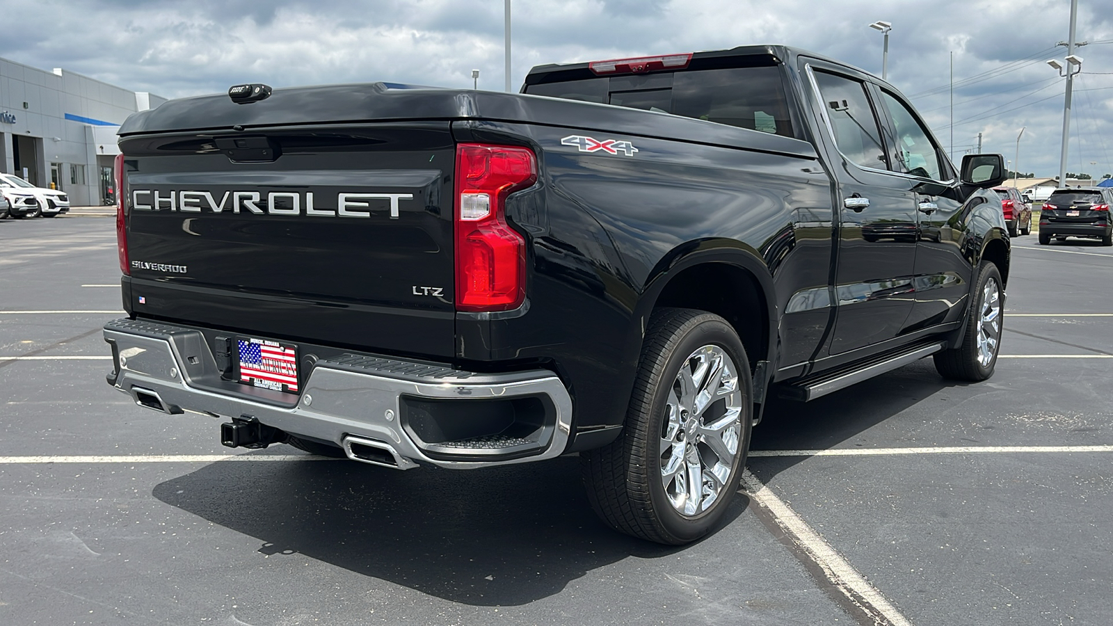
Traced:
<svg viewBox="0 0 1113 626">
<path fill-rule="evenodd" d="M 1080 0 L 1068 172 L 1113 174 L 1113 7 Z M 1058 173 L 1070 0 L 513 0 L 516 89 L 533 65 L 786 43 L 880 74 L 956 160 L 983 151 L 1037 176 Z M 166 97 L 391 80 L 503 87 L 503 0 L 0 0 L 0 57 L 62 67 Z M 12 32 L 17 29 L 26 36 Z M 954 127 L 949 70 L 954 53 Z M 1095 162 L 1095 163 L 1091 163 Z"/>
</svg>

